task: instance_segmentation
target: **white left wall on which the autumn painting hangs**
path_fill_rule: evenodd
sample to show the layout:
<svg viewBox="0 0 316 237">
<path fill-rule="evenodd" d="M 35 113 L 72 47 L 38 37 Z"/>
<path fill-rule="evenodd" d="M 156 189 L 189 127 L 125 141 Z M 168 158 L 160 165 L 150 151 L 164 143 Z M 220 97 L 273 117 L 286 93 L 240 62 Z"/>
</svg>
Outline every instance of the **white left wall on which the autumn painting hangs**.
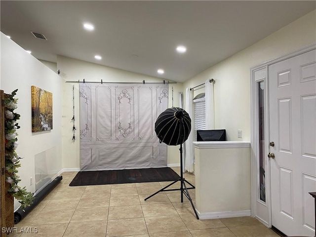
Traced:
<svg viewBox="0 0 316 237">
<path fill-rule="evenodd" d="M 26 186 L 30 192 L 35 192 L 35 157 L 47 151 L 48 165 L 54 165 L 56 174 L 62 169 L 61 117 L 62 117 L 62 78 L 52 72 L 39 60 L 27 53 L 23 48 L 1 34 L 1 89 L 11 93 L 18 89 L 18 108 L 21 115 L 18 120 L 19 147 L 17 153 L 24 157 L 18 175 L 21 178 L 20 187 Z M 53 94 L 53 129 L 51 131 L 32 134 L 31 123 L 31 85 L 35 85 Z M 54 156 L 51 156 L 51 151 Z M 33 185 L 30 186 L 30 177 Z M 19 206 L 15 202 L 15 209 Z"/>
</svg>

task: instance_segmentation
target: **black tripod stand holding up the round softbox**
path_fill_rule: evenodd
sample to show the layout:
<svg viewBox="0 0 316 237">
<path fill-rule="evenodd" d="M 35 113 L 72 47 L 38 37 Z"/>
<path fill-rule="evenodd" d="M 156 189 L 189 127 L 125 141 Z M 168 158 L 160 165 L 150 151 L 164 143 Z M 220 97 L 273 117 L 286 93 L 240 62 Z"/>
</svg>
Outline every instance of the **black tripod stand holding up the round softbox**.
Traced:
<svg viewBox="0 0 316 237">
<path fill-rule="evenodd" d="M 181 115 L 180 123 L 181 123 L 180 137 L 182 138 L 183 114 Z M 194 205 L 193 205 L 193 201 L 192 201 L 192 199 L 191 199 L 191 197 L 190 197 L 190 194 L 189 194 L 189 191 L 188 191 L 189 189 L 195 189 L 196 187 L 194 187 L 191 183 L 189 183 L 187 180 L 185 180 L 185 179 L 183 178 L 183 173 L 182 173 L 182 168 L 183 168 L 183 164 L 182 164 L 182 163 L 183 163 L 183 162 L 182 162 L 182 161 L 183 161 L 183 157 L 182 157 L 182 153 L 183 153 L 183 151 L 182 151 L 182 143 L 180 143 L 180 149 L 179 149 L 179 150 L 180 150 L 180 178 L 177 179 L 176 181 L 172 182 L 171 184 L 165 186 L 164 188 L 160 189 L 160 190 L 157 191 L 155 194 L 152 194 L 151 196 L 146 197 L 146 198 L 145 198 L 145 201 L 146 201 L 148 198 L 153 197 L 153 196 L 155 196 L 156 194 L 158 194 L 158 193 L 160 193 L 160 192 L 180 190 L 180 191 L 181 191 L 181 202 L 183 202 L 183 195 L 185 195 L 185 196 L 189 199 L 189 201 L 191 202 L 191 205 L 192 205 L 192 208 L 193 208 L 193 210 L 194 210 L 194 213 L 196 214 L 196 217 L 197 217 L 197 219 L 198 219 L 198 215 L 197 215 L 196 208 L 195 208 Z M 167 189 L 168 187 L 170 187 L 171 185 L 173 185 L 173 184 L 175 184 L 175 183 L 177 183 L 177 182 L 179 182 L 179 181 L 180 181 L 180 183 L 181 183 L 180 189 Z M 186 183 L 188 183 L 191 187 L 187 188 Z"/>
</svg>

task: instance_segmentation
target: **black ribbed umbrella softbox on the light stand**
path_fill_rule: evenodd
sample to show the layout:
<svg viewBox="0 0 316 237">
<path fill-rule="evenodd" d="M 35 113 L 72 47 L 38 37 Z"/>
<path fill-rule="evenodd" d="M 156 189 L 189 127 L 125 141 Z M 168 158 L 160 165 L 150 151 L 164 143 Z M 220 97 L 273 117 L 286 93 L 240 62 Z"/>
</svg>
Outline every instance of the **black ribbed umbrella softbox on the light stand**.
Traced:
<svg viewBox="0 0 316 237">
<path fill-rule="evenodd" d="M 182 144 L 189 137 L 191 118 L 181 108 L 168 108 L 158 116 L 155 131 L 160 143 L 163 142 L 169 146 Z"/>
</svg>

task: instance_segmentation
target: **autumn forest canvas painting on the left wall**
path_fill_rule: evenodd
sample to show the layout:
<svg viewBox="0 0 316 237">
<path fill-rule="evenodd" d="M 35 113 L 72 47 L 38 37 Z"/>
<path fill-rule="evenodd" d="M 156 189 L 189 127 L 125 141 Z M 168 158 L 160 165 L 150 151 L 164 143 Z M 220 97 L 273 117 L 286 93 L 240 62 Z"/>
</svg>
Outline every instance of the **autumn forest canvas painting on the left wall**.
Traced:
<svg viewBox="0 0 316 237">
<path fill-rule="evenodd" d="M 32 91 L 32 132 L 53 129 L 53 94 L 34 85 Z"/>
</svg>

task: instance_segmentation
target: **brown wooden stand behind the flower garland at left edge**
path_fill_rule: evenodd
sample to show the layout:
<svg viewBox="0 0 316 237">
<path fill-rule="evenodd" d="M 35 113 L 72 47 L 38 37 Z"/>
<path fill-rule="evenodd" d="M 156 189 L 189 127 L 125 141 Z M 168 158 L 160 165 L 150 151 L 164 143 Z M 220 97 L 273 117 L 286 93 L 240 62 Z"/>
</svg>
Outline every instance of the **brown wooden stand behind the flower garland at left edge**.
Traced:
<svg viewBox="0 0 316 237">
<path fill-rule="evenodd" d="M 10 188 L 10 184 L 5 182 L 5 137 L 4 137 L 4 102 L 3 99 L 6 94 L 3 90 L 0 90 L 0 237 L 5 237 L 6 233 L 2 232 L 2 227 L 13 228 L 14 227 L 14 198 L 8 194 L 7 190 Z"/>
</svg>

